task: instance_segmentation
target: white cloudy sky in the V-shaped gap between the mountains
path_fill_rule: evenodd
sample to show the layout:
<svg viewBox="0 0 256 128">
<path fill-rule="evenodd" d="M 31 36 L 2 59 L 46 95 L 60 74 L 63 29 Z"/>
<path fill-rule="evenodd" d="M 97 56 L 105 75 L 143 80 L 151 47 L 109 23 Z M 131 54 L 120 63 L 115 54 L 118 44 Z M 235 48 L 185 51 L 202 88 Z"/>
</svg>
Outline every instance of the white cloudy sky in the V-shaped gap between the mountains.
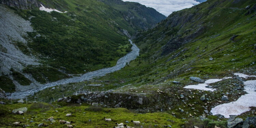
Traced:
<svg viewBox="0 0 256 128">
<path fill-rule="evenodd" d="M 199 4 L 194 0 L 123 0 L 138 2 L 147 7 L 154 8 L 163 15 L 170 15 L 173 11 L 179 11 L 182 9 L 190 8 L 193 5 Z"/>
</svg>

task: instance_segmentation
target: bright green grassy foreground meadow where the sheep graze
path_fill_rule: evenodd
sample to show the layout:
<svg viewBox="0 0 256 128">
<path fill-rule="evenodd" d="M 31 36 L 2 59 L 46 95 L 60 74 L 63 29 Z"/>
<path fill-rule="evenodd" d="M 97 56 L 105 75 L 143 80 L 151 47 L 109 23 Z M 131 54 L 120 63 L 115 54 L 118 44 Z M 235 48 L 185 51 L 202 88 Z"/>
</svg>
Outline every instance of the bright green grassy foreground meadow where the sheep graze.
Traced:
<svg viewBox="0 0 256 128">
<path fill-rule="evenodd" d="M 1 104 L 0 104 L 1 105 Z M 13 109 L 27 107 L 28 111 L 23 115 L 12 114 Z M 60 124 L 59 120 L 73 121 L 76 128 L 110 128 L 115 126 L 115 123 L 124 123 L 128 126 L 133 126 L 131 120 L 140 120 L 144 127 L 152 128 L 154 125 L 162 127 L 164 125 L 171 125 L 172 127 L 180 127 L 184 124 L 184 120 L 177 119 L 167 113 L 147 113 L 140 114 L 134 113 L 124 108 L 100 108 L 92 107 L 88 104 L 69 104 L 61 108 L 56 103 L 47 104 L 43 102 L 39 103 L 28 103 L 28 104 L 12 104 L 12 105 L 1 105 L 0 109 L 0 127 L 13 128 L 12 123 L 21 121 L 22 127 L 24 124 L 38 127 L 40 123 L 46 123 L 49 126 L 47 128 L 63 128 L 66 125 Z M 9 111 L 11 110 L 11 111 Z M 56 112 L 58 111 L 58 112 Z M 67 113 L 71 113 L 71 117 L 66 117 Z M 46 119 L 54 117 L 55 123 L 47 122 Z M 23 119 L 24 117 L 24 119 Z M 103 117 L 111 118 L 111 122 L 106 122 Z M 30 121 L 33 120 L 31 123 Z M 129 123 L 125 123 L 129 121 Z"/>
</svg>

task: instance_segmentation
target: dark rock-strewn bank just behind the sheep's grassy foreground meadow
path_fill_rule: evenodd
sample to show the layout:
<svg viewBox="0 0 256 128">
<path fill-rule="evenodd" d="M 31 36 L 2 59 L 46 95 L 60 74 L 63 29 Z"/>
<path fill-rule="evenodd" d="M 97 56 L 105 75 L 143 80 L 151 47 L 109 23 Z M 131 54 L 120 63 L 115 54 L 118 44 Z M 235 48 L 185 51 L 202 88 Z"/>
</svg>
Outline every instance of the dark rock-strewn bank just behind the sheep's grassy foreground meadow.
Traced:
<svg viewBox="0 0 256 128">
<path fill-rule="evenodd" d="M 100 97 L 99 97 L 100 96 Z M 80 99 L 80 100 L 79 100 Z M 167 111 L 175 105 L 182 104 L 182 101 L 177 100 L 172 94 L 156 94 L 154 96 L 139 96 L 124 93 L 111 92 L 86 92 L 78 96 L 70 96 L 63 98 L 62 101 L 69 103 L 92 104 L 93 106 L 104 106 L 108 108 L 126 108 L 133 109 L 141 113 Z"/>
</svg>

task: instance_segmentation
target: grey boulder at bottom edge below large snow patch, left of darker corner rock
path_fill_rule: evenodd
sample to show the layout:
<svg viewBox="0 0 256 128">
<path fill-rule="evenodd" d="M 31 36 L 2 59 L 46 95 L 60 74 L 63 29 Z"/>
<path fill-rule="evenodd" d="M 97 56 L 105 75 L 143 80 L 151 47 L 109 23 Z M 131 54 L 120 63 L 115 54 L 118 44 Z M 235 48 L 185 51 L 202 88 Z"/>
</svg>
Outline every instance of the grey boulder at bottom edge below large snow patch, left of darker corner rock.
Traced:
<svg viewBox="0 0 256 128">
<path fill-rule="evenodd" d="M 243 119 L 236 118 L 236 115 L 230 115 L 228 118 L 228 128 L 242 128 L 243 127 Z"/>
</svg>

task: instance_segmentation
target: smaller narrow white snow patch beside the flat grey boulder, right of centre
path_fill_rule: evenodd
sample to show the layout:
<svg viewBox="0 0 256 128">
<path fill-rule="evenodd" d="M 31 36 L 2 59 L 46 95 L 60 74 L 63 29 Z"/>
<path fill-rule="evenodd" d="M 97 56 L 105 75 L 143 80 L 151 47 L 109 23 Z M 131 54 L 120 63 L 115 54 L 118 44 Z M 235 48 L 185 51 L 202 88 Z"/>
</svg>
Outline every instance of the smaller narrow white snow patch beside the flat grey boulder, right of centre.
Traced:
<svg viewBox="0 0 256 128">
<path fill-rule="evenodd" d="M 232 78 L 232 77 L 224 77 L 223 79 L 229 79 L 229 78 Z M 205 81 L 203 84 L 188 85 L 188 86 L 185 86 L 184 88 L 192 88 L 192 89 L 199 89 L 199 90 L 205 90 L 205 91 L 214 91 L 216 89 L 207 88 L 206 86 L 208 86 L 209 84 L 218 82 L 218 81 L 222 81 L 223 79 L 209 79 L 209 80 Z"/>
</svg>

